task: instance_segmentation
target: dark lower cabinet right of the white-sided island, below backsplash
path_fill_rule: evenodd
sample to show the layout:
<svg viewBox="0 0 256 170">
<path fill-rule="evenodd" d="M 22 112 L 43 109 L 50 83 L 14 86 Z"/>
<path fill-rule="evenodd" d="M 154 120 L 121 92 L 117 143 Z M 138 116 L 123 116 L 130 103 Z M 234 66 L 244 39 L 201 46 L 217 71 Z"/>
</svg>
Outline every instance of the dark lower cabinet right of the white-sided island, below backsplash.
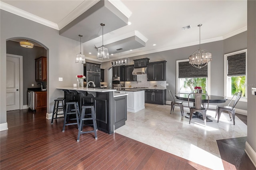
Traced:
<svg viewBox="0 0 256 170">
<path fill-rule="evenodd" d="M 166 105 L 166 89 L 146 89 L 145 103 Z"/>
</svg>

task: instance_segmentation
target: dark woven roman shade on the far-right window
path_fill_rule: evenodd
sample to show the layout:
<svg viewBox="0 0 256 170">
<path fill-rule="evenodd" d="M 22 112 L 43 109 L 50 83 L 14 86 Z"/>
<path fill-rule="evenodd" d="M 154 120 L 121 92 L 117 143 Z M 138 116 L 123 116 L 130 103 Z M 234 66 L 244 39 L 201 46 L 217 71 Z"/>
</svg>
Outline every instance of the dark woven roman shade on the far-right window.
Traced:
<svg viewBox="0 0 256 170">
<path fill-rule="evenodd" d="M 228 76 L 241 76 L 246 74 L 246 53 L 230 55 L 228 59 Z"/>
</svg>

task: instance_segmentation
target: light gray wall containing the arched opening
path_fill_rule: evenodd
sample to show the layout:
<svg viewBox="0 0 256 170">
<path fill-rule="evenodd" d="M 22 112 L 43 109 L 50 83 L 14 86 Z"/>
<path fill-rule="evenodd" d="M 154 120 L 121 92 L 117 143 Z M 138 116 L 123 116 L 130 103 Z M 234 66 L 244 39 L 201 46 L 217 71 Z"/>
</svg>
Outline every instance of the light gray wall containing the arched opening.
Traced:
<svg viewBox="0 0 256 170">
<path fill-rule="evenodd" d="M 77 41 L 59 35 L 54 30 L 26 18 L 0 10 L 0 124 L 6 123 L 6 41 L 16 38 L 31 40 L 47 50 L 47 113 L 52 113 L 54 99 L 63 97 L 56 87 L 72 87 L 76 75 L 83 73 L 83 65 L 75 63 L 80 51 Z M 22 30 L 22 31 L 21 31 Z M 63 77 L 63 81 L 58 81 Z"/>
</svg>

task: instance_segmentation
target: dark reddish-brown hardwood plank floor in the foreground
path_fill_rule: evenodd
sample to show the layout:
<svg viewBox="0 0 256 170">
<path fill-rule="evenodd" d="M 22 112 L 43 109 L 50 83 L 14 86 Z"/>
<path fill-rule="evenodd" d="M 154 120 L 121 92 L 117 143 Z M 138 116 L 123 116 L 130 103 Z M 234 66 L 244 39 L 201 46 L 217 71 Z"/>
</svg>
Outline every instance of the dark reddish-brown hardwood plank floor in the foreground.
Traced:
<svg viewBox="0 0 256 170">
<path fill-rule="evenodd" d="M 46 111 L 7 112 L 8 130 L 0 132 L 1 169 L 208 169 L 120 134 L 98 130 L 97 140 L 89 133 L 76 142 L 76 125 L 62 132 L 63 119 L 51 125 L 45 117 Z"/>
</svg>

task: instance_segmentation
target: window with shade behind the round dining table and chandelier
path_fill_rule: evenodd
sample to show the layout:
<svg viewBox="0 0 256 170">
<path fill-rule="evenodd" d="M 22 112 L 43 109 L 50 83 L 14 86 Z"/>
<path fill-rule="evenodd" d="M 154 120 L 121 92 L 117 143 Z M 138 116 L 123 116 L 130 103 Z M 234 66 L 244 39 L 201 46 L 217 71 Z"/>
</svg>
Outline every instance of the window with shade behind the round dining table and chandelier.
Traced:
<svg viewBox="0 0 256 170">
<path fill-rule="evenodd" d="M 198 69 L 188 59 L 176 61 L 176 93 L 191 93 L 196 86 L 210 93 L 210 63 Z"/>
</svg>

